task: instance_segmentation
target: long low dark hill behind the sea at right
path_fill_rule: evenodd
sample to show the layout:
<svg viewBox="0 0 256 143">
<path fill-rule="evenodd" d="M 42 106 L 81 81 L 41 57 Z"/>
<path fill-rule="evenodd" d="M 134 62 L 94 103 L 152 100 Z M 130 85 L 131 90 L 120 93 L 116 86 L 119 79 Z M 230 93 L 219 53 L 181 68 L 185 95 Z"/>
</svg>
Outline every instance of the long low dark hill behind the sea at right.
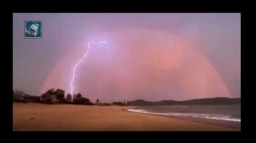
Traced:
<svg viewBox="0 0 256 143">
<path fill-rule="evenodd" d="M 240 105 L 241 98 L 204 98 L 186 101 L 162 100 L 150 102 L 145 100 L 130 101 L 129 106 L 172 106 L 172 105 Z"/>
</svg>

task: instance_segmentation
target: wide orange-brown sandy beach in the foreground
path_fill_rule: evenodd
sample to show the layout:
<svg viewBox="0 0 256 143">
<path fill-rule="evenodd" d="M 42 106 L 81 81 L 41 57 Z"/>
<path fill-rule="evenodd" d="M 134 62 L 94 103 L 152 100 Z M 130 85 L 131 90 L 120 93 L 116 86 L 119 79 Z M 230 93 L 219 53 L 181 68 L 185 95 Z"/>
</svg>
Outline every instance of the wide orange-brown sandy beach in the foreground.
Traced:
<svg viewBox="0 0 256 143">
<path fill-rule="evenodd" d="M 121 106 L 13 103 L 13 131 L 240 131 L 133 113 Z"/>
</svg>

